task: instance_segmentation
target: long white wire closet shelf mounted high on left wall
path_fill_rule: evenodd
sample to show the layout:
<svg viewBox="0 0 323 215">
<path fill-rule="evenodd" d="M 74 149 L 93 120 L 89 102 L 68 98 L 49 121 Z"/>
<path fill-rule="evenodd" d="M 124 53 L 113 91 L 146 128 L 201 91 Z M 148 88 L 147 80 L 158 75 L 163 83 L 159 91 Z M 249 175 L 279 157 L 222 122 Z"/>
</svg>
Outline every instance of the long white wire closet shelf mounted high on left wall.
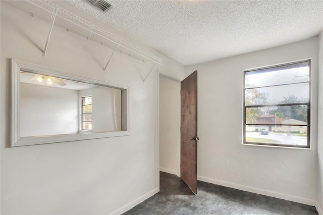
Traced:
<svg viewBox="0 0 323 215">
<path fill-rule="evenodd" d="M 130 42 L 121 39 L 120 37 L 94 25 L 93 23 L 86 21 L 85 19 L 47 0 L 25 1 L 39 9 L 42 9 L 42 11 L 45 11 L 46 14 L 49 13 L 47 17 L 44 15 L 42 15 L 41 17 L 49 22 L 52 22 L 51 29 L 55 24 L 57 26 L 60 26 L 61 28 L 66 29 L 69 32 L 73 32 L 79 36 L 85 37 L 89 40 L 110 47 L 114 51 L 119 51 L 127 56 L 136 58 L 142 62 L 153 62 L 160 65 L 162 64 L 162 60 L 160 58 L 157 58 L 151 53 L 131 44 Z M 39 14 L 42 14 L 42 12 L 38 12 Z M 48 40 L 50 37 L 50 33 L 48 36 Z M 44 53 L 45 51 L 46 47 L 44 49 Z"/>
</svg>

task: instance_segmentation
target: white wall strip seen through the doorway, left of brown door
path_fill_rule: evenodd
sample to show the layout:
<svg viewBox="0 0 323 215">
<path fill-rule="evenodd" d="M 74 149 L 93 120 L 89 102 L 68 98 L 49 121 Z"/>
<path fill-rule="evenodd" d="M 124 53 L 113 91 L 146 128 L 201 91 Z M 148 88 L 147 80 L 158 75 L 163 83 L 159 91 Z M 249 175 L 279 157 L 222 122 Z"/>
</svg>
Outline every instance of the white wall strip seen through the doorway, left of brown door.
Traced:
<svg viewBox="0 0 323 215">
<path fill-rule="evenodd" d="M 181 83 L 159 77 L 159 170 L 180 175 Z"/>
</svg>

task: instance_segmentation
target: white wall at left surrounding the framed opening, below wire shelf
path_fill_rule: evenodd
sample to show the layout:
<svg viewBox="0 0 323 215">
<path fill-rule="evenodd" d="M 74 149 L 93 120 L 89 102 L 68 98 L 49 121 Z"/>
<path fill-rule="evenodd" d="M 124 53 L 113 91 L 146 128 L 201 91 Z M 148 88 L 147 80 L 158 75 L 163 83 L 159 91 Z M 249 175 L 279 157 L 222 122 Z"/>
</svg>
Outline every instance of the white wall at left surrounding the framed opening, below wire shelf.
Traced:
<svg viewBox="0 0 323 215">
<path fill-rule="evenodd" d="M 0 4 L 1 214 L 120 214 L 156 193 L 157 69 L 182 77 L 184 68 L 162 57 L 143 82 L 152 65 L 116 52 L 103 72 L 113 50 L 57 26 L 43 57 L 50 24 Z M 11 58 L 129 85 L 131 135 L 10 148 Z"/>
</svg>

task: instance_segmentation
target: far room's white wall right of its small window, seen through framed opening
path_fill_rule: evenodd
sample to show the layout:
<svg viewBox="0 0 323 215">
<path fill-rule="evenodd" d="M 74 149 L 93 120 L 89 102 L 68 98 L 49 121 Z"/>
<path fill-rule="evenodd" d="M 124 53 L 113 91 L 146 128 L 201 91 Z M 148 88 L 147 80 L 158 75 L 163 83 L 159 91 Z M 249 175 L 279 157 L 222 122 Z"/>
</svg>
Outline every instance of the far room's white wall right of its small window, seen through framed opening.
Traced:
<svg viewBox="0 0 323 215">
<path fill-rule="evenodd" d="M 94 87 L 80 90 L 80 97 L 92 96 L 92 132 L 121 131 L 121 90 Z"/>
</svg>

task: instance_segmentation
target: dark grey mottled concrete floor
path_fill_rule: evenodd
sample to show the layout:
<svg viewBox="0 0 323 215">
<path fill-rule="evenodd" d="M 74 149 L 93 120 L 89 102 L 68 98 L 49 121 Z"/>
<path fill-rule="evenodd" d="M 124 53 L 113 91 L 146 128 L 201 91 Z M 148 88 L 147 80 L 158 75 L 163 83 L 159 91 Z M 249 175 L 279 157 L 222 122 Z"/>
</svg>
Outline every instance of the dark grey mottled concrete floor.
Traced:
<svg viewBox="0 0 323 215">
<path fill-rule="evenodd" d="M 315 207 L 198 181 L 197 195 L 175 175 L 160 172 L 160 192 L 128 210 L 134 214 L 318 214 Z"/>
</svg>

